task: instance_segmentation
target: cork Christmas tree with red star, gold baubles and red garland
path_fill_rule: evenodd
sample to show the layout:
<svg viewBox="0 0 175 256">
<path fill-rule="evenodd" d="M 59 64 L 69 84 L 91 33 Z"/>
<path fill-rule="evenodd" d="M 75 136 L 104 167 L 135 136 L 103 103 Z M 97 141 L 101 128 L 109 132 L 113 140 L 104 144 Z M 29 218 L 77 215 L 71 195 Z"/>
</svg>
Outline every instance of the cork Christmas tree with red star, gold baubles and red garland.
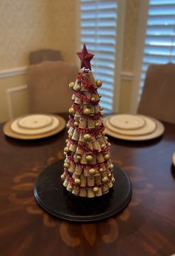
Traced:
<svg viewBox="0 0 175 256">
<path fill-rule="evenodd" d="M 94 80 L 90 67 L 93 54 L 84 45 L 77 53 L 81 69 L 76 82 L 70 83 L 73 104 L 69 109 L 68 138 L 65 147 L 63 185 L 76 196 L 94 197 L 108 193 L 113 187 L 113 164 L 110 143 L 102 120 L 101 80 Z"/>
</svg>

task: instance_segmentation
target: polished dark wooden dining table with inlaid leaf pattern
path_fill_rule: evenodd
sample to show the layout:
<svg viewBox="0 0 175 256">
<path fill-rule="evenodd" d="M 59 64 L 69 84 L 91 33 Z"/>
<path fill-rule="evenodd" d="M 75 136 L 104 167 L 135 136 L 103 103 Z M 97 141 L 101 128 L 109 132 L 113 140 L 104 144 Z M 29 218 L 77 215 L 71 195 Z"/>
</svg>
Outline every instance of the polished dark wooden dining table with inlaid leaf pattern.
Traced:
<svg viewBox="0 0 175 256">
<path fill-rule="evenodd" d="M 175 125 L 163 124 L 164 135 L 151 141 L 109 137 L 111 158 L 130 177 L 133 196 L 120 214 L 87 224 L 50 216 L 33 197 L 39 173 L 64 158 L 67 129 L 21 141 L 6 137 L 0 124 L 0 255 L 173 255 Z"/>
</svg>

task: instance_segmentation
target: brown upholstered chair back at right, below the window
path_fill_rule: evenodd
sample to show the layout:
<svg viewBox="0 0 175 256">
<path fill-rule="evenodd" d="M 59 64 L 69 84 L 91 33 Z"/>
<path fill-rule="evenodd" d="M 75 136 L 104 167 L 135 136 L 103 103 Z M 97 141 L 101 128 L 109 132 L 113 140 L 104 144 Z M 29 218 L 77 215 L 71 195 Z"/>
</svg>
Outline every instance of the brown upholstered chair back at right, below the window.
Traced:
<svg viewBox="0 0 175 256">
<path fill-rule="evenodd" d="M 175 65 L 150 65 L 138 114 L 175 124 Z"/>
</svg>

